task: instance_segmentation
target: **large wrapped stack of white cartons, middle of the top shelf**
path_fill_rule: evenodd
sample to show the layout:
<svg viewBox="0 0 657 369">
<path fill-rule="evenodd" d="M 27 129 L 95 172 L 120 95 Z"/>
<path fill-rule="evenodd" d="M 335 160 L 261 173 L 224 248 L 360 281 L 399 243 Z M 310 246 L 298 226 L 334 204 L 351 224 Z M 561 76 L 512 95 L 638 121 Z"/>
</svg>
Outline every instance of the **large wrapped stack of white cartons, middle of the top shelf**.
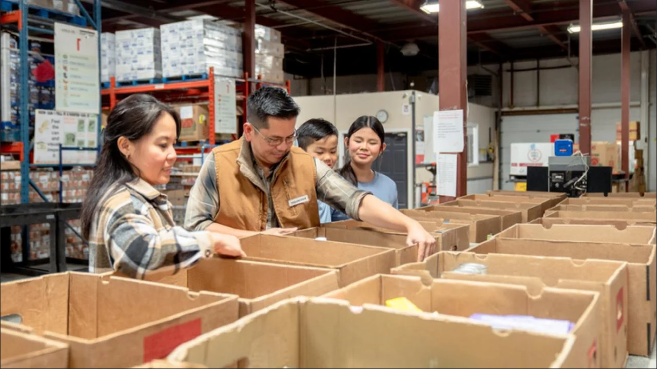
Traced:
<svg viewBox="0 0 657 369">
<path fill-rule="evenodd" d="M 162 74 L 179 77 L 207 73 L 241 77 L 242 30 L 212 20 L 185 20 L 160 26 Z"/>
</svg>

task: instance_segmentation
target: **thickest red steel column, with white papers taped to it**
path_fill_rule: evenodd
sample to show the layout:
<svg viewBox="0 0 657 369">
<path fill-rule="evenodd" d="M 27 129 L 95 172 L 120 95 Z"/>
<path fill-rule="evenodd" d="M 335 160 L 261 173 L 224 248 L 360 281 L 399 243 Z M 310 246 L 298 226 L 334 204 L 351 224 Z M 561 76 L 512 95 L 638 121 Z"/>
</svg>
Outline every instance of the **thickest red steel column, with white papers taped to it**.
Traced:
<svg viewBox="0 0 657 369">
<path fill-rule="evenodd" d="M 463 152 L 460 152 L 457 170 L 457 196 L 468 192 L 467 116 L 468 90 L 466 77 L 466 12 L 465 0 L 440 2 L 438 13 L 438 89 L 440 110 L 463 110 Z M 440 202 L 449 201 L 441 196 Z"/>
</svg>

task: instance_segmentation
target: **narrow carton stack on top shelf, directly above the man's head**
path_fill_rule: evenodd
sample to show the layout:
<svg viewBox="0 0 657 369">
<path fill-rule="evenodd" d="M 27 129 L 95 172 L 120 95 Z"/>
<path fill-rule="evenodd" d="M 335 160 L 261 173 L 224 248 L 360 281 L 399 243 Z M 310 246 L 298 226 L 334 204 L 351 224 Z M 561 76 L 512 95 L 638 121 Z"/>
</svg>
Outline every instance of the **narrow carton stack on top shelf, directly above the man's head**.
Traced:
<svg viewBox="0 0 657 369">
<path fill-rule="evenodd" d="M 281 43 L 281 32 L 273 28 L 256 25 L 256 76 L 263 81 L 284 83 L 283 58 L 285 48 Z"/>
</svg>

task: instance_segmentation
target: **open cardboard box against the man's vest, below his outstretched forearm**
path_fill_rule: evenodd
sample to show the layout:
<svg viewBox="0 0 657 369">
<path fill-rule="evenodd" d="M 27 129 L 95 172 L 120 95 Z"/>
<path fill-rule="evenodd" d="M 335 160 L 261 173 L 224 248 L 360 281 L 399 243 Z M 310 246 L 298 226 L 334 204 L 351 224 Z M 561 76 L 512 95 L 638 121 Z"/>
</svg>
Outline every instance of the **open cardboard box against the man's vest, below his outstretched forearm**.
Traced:
<svg viewBox="0 0 657 369">
<path fill-rule="evenodd" d="M 299 230 L 292 234 L 292 237 L 302 237 L 315 239 L 324 237 L 332 242 L 346 242 L 348 244 L 359 244 L 366 246 L 377 246 L 380 248 L 390 248 L 395 250 L 395 266 L 414 263 L 417 261 L 418 246 L 408 246 L 406 244 L 406 235 L 391 232 L 376 232 L 375 230 L 365 229 L 340 229 L 332 227 L 315 227 Z"/>
</svg>

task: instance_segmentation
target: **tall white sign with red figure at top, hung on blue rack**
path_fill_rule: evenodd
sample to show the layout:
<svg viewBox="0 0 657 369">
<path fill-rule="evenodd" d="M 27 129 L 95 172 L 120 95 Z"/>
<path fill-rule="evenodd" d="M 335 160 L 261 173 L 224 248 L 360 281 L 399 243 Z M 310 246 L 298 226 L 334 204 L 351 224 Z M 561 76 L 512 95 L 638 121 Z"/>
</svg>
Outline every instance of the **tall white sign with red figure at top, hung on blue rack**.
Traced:
<svg viewBox="0 0 657 369">
<path fill-rule="evenodd" d="M 98 32 L 55 23 L 55 109 L 99 114 Z"/>
</svg>

